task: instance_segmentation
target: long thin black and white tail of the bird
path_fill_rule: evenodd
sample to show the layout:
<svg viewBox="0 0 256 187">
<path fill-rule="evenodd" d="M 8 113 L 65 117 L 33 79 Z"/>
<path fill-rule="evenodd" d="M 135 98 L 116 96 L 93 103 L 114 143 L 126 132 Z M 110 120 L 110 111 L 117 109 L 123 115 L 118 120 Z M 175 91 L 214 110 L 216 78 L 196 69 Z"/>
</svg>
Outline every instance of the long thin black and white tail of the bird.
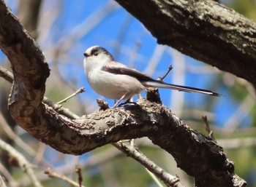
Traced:
<svg viewBox="0 0 256 187">
<path fill-rule="evenodd" d="M 214 96 L 221 96 L 216 92 L 211 92 L 211 90 L 207 89 L 200 89 L 195 87 L 184 87 L 176 84 L 167 84 L 163 81 L 144 81 L 144 87 L 157 87 L 157 88 L 166 88 L 166 89 L 176 89 L 182 92 L 193 92 L 193 93 L 203 93 L 206 95 L 214 95 Z"/>
</svg>

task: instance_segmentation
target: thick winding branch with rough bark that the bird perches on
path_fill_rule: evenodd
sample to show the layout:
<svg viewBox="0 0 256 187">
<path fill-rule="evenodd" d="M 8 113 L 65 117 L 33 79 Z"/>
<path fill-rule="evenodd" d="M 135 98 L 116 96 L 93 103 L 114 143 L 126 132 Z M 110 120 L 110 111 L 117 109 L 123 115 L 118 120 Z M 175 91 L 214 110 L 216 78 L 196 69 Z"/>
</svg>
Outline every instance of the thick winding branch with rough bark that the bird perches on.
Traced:
<svg viewBox="0 0 256 187">
<path fill-rule="evenodd" d="M 218 144 L 189 128 L 170 109 L 139 100 L 72 120 L 42 103 L 50 70 L 37 43 L 0 1 L 0 47 L 12 64 L 12 117 L 38 140 L 66 154 L 83 154 L 118 140 L 148 137 L 176 159 L 200 186 L 245 186 Z"/>
</svg>

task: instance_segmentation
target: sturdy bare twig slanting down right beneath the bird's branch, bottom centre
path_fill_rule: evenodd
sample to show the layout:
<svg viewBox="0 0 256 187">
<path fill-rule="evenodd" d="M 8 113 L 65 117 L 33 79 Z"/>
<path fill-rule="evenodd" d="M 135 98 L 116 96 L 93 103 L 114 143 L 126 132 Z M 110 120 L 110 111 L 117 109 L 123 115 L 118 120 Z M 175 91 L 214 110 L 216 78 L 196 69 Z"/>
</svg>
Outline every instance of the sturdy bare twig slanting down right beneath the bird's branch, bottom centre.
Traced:
<svg viewBox="0 0 256 187">
<path fill-rule="evenodd" d="M 157 164 L 148 159 L 146 155 L 141 153 L 138 148 L 135 148 L 135 146 L 127 146 L 121 142 L 112 143 L 112 145 L 127 154 L 127 156 L 130 156 L 133 159 L 137 160 L 140 164 L 143 164 L 146 169 L 154 173 L 154 175 L 161 179 L 167 186 L 184 187 L 178 178 L 165 172 L 165 170 L 163 170 L 161 167 L 157 166 Z"/>
</svg>

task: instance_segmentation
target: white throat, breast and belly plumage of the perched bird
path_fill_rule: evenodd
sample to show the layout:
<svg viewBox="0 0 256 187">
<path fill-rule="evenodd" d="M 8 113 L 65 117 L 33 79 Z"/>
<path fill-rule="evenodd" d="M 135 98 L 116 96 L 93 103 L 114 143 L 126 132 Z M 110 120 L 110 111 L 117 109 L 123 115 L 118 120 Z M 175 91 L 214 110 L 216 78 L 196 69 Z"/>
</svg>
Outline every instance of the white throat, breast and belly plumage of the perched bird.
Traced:
<svg viewBox="0 0 256 187">
<path fill-rule="evenodd" d="M 91 88 L 99 95 L 115 100 L 119 100 L 125 95 L 124 99 L 128 99 L 133 95 L 138 95 L 144 89 L 140 81 L 132 76 L 103 71 L 102 67 L 107 64 L 111 64 L 111 62 L 109 57 L 104 54 L 86 57 L 83 63 L 86 78 Z M 118 65 L 126 67 L 123 64 Z"/>
</svg>

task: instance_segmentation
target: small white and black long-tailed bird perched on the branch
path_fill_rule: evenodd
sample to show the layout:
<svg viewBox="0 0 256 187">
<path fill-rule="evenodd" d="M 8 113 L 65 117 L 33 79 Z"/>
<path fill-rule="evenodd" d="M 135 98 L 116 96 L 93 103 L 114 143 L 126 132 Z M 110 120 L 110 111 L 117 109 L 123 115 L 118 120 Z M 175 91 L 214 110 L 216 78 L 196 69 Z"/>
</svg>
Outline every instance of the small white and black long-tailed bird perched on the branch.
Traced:
<svg viewBox="0 0 256 187">
<path fill-rule="evenodd" d="M 99 95 L 117 100 L 113 108 L 118 106 L 121 100 L 127 100 L 128 102 L 134 95 L 139 95 L 143 89 L 149 87 L 220 96 L 219 93 L 207 89 L 168 84 L 164 81 L 152 79 L 145 73 L 116 62 L 113 55 L 104 47 L 89 47 L 83 55 L 84 72 L 89 85 Z"/>
</svg>

